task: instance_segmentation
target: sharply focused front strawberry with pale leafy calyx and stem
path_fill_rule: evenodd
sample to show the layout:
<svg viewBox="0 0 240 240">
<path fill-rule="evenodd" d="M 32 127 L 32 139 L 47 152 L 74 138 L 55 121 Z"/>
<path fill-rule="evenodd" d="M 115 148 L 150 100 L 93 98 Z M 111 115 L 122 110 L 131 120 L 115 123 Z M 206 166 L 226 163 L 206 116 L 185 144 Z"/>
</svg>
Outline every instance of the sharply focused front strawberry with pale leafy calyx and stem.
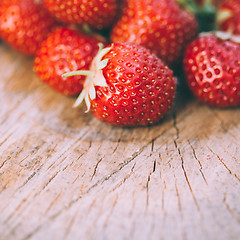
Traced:
<svg viewBox="0 0 240 240">
<path fill-rule="evenodd" d="M 98 119 L 118 126 L 158 122 L 175 96 L 172 71 L 145 47 L 113 43 L 99 51 L 75 106 L 85 98 Z M 69 73 L 82 74 L 82 72 Z"/>
</svg>

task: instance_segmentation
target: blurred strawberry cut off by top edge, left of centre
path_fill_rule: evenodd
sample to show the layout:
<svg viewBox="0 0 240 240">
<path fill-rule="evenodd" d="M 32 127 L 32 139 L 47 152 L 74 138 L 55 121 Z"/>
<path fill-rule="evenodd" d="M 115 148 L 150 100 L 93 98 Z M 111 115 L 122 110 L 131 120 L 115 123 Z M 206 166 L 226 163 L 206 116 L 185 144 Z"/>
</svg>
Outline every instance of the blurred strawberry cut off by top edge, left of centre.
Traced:
<svg viewBox="0 0 240 240">
<path fill-rule="evenodd" d="M 49 12 L 66 23 L 102 29 L 113 24 L 117 14 L 116 0 L 44 0 Z"/>
</svg>

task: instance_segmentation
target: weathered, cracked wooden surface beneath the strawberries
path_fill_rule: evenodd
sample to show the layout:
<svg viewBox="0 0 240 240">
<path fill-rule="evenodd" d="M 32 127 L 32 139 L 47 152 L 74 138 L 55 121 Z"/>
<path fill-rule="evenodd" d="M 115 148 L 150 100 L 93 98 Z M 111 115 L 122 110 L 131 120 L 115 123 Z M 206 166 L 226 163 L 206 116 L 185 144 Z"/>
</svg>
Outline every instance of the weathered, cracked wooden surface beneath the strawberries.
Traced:
<svg viewBox="0 0 240 240">
<path fill-rule="evenodd" d="M 240 239 L 240 110 L 179 96 L 115 128 L 0 45 L 0 239 Z"/>
</svg>

